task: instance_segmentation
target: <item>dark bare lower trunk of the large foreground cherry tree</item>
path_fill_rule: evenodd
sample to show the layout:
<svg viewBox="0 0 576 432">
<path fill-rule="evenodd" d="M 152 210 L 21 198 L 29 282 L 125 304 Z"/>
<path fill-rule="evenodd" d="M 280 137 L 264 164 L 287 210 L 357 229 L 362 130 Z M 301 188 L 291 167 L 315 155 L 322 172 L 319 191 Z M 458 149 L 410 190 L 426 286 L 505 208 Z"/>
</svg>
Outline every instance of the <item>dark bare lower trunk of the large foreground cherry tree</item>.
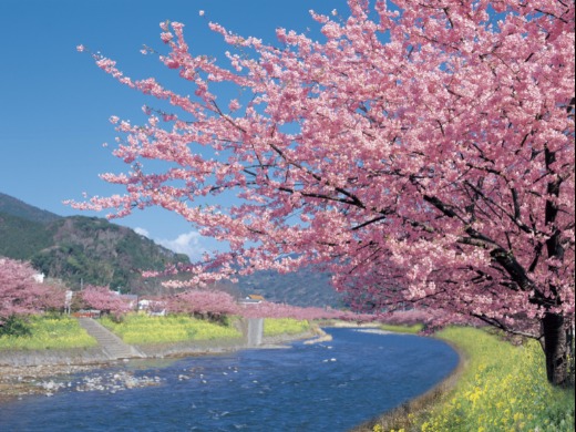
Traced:
<svg viewBox="0 0 576 432">
<path fill-rule="evenodd" d="M 544 331 L 544 353 L 546 356 L 546 376 L 554 385 L 568 384 L 568 344 L 564 317 L 546 313 L 542 319 Z"/>
</svg>

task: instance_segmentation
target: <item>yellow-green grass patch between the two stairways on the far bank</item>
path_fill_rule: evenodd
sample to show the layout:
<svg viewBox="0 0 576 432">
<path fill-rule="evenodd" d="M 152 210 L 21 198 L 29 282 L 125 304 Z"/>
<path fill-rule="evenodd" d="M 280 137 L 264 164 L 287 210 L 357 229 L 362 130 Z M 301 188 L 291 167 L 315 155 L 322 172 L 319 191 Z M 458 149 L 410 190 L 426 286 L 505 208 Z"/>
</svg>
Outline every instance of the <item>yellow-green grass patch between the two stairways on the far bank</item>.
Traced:
<svg viewBox="0 0 576 432">
<path fill-rule="evenodd" d="M 104 317 L 101 319 L 101 323 L 120 336 L 124 342 L 134 344 L 241 337 L 241 333 L 232 325 L 224 326 L 177 315 L 148 317 L 131 313 L 122 322 L 114 322 L 112 319 Z"/>
</svg>

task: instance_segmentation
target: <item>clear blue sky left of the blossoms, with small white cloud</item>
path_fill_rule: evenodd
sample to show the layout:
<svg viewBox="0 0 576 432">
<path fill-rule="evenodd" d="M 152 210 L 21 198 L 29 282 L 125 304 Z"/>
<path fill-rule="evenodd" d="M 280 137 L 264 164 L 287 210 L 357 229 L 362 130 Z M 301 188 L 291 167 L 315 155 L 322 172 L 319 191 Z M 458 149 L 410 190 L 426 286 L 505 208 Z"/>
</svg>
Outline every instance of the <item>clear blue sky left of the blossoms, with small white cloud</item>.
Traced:
<svg viewBox="0 0 576 432">
<path fill-rule="evenodd" d="M 137 123 L 142 105 L 154 103 L 107 76 L 76 45 L 116 60 L 132 78 L 162 81 L 169 71 L 140 53 L 143 44 L 163 50 L 162 21 L 183 22 L 193 52 L 223 59 L 227 48 L 209 21 L 274 43 L 278 27 L 313 35 L 319 27 L 308 11 L 335 8 L 347 11 L 343 0 L 0 0 L 0 192 L 62 216 L 101 217 L 62 200 L 122 192 L 99 178 L 126 171 L 111 155 L 116 134 L 109 117 Z M 193 256 L 217 247 L 163 209 L 115 223 Z"/>
</svg>

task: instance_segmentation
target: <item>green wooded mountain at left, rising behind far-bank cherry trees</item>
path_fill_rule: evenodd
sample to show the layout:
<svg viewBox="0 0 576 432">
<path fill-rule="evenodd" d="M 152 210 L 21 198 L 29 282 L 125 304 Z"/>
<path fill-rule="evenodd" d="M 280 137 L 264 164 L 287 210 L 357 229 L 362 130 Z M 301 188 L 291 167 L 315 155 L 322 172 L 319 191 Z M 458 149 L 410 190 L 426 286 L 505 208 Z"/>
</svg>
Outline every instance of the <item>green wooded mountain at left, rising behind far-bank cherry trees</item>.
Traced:
<svg viewBox="0 0 576 432">
<path fill-rule="evenodd" d="M 158 280 L 143 279 L 140 270 L 189 261 L 106 219 L 61 217 L 6 194 L 0 194 L 0 256 L 30 260 L 72 289 L 91 284 L 133 294 L 161 290 Z"/>
</svg>

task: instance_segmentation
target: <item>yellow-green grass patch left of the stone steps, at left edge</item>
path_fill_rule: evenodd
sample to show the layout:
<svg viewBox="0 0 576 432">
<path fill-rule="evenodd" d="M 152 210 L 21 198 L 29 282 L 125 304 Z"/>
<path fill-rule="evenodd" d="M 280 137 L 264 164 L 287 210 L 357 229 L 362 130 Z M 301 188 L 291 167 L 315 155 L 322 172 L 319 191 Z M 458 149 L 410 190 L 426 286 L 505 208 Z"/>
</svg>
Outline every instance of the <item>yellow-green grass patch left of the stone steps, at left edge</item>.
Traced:
<svg viewBox="0 0 576 432">
<path fill-rule="evenodd" d="M 32 316 L 29 319 L 30 336 L 0 337 L 0 350 L 43 350 L 90 348 L 96 340 L 80 327 L 75 318 Z"/>
</svg>

